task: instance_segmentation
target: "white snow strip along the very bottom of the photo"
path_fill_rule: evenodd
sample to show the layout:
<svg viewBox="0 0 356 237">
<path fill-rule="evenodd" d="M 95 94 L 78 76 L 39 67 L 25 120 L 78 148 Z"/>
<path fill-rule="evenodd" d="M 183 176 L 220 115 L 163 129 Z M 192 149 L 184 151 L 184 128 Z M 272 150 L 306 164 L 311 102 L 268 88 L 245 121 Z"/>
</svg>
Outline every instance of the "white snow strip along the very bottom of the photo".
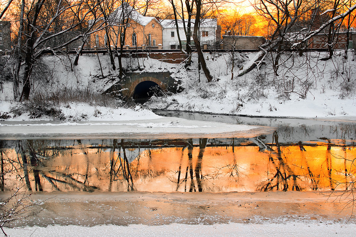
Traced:
<svg viewBox="0 0 356 237">
<path fill-rule="evenodd" d="M 144 237 L 208 237 L 208 236 L 355 236 L 355 224 L 342 223 L 267 223 L 267 224 L 243 224 L 243 223 L 229 223 L 229 224 L 214 224 L 214 225 L 188 225 L 172 223 L 169 225 L 147 226 L 135 225 L 129 226 L 115 226 L 115 225 L 100 225 L 100 226 L 47 226 L 47 227 L 26 227 L 24 229 L 8 229 L 5 232 L 10 236 L 17 237 L 97 237 L 97 236 L 144 236 Z"/>
</svg>

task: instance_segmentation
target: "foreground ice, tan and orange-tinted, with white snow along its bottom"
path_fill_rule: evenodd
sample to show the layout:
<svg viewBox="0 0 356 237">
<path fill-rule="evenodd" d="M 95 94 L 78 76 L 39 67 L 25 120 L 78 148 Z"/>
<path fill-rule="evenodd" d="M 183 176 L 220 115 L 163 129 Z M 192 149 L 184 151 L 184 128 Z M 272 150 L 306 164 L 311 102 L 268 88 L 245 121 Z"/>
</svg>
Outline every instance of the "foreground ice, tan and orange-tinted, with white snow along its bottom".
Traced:
<svg viewBox="0 0 356 237">
<path fill-rule="evenodd" d="M 11 236 L 353 236 L 352 210 L 329 192 L 38 193 Z M 340 194 L 336 192 L 335 195 Z M 321 207 L 322 206 L 322 207 Z M 350 218 L 351 217 L 351 218 Z M 349 219 L 350 218 L 350 219 Z"/>
</svg>

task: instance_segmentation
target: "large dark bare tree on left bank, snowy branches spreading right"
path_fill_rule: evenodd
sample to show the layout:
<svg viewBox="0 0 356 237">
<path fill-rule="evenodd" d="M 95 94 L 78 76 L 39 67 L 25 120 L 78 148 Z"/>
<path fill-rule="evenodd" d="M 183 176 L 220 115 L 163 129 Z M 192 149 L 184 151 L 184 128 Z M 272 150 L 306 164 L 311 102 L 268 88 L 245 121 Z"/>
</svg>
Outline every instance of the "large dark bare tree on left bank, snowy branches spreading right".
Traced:
<svg viewBox="0 0 356 237">
<path fill-rule="evenodd" d="M 96 11 L 98 4 L 99 2 L 92 3 L 85 0 L 75 2 L 67 0 L 22 1 L 18 32 L 18 35 L 22 37 L 18 38 L 15 49 L 19 67 L 16 67 L 14 73 L 18 79 L 20 67 L 24 67 L 20 100 L 29 98 L 31 82 L 35 79 L 31 77 L 32 71 L 43 54 L 48 52 L 56 54 L 63 47 L 101 28 L 101 25 L 97 26 L 93 22 L 98 19 Z M 21 53 L 19 53 L 20 49 Z M 23 62 L 22 58 L 24 58 Z"/>
</svg>

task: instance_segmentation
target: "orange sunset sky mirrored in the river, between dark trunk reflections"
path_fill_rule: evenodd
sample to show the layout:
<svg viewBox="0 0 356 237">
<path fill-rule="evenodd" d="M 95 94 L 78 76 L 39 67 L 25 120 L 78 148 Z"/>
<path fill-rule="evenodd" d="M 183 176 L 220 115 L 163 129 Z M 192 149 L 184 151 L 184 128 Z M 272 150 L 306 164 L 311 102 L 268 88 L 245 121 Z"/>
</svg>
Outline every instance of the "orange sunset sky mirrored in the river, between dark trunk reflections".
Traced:
<svg viewBox="0 0 356 237">
<path fill-rule="evenodd" d="M 343 190 L 345 185 L 339 183 L 350 182 L 356 172 L 352 165 L 352 160 L 356 158 L 355 147 L 333 146 L 328 151 L 324 143 L 304 146 L 306 151 L 301 151 L 299 146 L 286 146 L 281 147 L 282 156 L 279 157 L 274 151 L 259 152 L 258 147 L 251 146 L 251 143 L 246 143 L 247 146 L 241 146 L 241 143 L 235 145 L 240 146 L 235 146 L 234 152 L 231 146 L 206 147 L 201 170 L 196 169 L 199 147 L 193 148 L 192 159 L 188 157 L 188 149 L 182 152 L 182 147 L 150 150 L 141 147 L 140 151 L 138 148 L 126 148 L 134 190 L 184 192 L 194 187 L 198 191 L 197 172 L 202 175 L 200 185 L 203 191 L 208 192 L 276 191 L 282 190 L 286 184 L 287 190 L 295 190 L 295 186 L 306 191 L 316 186 L 318 190 L 330 190 L 331 186 Z M 112 152 L 110 148 L 87 147 L 75 146 L 60 153 L 47 150 L 46 159 L 46 156 L 40 156 L 42 152 L 38 152 L 37 158 L 42 161 L 36 167 L 31 167 L 28 162 L 32 190 L 35 189 L 33 171 L 37 169 L 46 191 L 56 190 L 52 184 L 61 191 L 127 191 L 127 180 L 122 169 L 122 166 L 127 168 L 127 163 L 122 149 L 116 147 Z M 276 150 L 276 147 L 272 148 Z M 121 160 L 118 159 L 119 151 Z M 14 149 L 8 149 L 4 158 L 18 160 Z M 21 163 L 18 164 L 17 169 L 21 170 L 20 183 L 23 184 L 25 179 L 21 166 Z M 127 169 L 125 173 L 127 176 Z M 20 176 L 7 176 L 5 186 L 12 188 L 16 185 L 14 178 L 20 180 Z"/>
</svg>

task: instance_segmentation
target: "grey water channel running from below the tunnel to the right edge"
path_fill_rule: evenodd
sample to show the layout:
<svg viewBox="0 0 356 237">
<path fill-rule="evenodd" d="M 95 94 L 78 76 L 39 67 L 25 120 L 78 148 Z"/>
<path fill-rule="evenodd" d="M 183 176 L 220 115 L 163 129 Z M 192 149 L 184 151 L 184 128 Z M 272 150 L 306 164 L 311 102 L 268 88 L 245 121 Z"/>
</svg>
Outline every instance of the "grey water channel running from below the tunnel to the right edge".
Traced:
<svg viewBox="0 0 356 237">
<path fill-rule="evenodd" d="M 326 138 L 336 142 L 340 139 L 345 139 L 346 141 L 350 141 L 352 146 L 355 145 L 355 121 L 326 121 L 316 118 L 247 117 L 159 110 L 157 110 L 156 113 L 163 116 L 174 116 L 191 120 L 277 127 L 279 141 L 283 143 L 294 144 L 299 141 L 318 141 L 321 138 Z M 272 139 L 272 134 L 267 135 L 267 142 L 272 143 Z"/>
</svg>

